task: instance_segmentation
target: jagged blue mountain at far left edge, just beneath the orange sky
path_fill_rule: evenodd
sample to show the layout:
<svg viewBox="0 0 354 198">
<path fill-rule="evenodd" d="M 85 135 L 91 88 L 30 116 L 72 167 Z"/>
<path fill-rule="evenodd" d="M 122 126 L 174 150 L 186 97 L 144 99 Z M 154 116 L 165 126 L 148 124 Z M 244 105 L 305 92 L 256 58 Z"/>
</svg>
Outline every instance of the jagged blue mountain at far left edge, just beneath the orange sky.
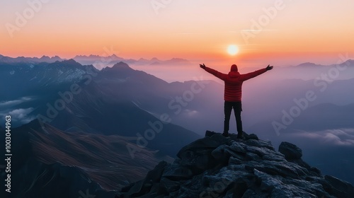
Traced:
<svg viewBox="0 0 354 198">
<path fill-rule="evenodd" d="M 82 81 L 87 74 L 98 71 L 92 65 L 82 66 L 73 59 L 57 61 L 53 63 L 41 62 L 0 62 L 0 82 L 7 86 L 1 86 L 2 100 L 14 100 L 25 95 L 42 95 L 44 90 L 65 90 L 65 86 Z"/>
</svg>

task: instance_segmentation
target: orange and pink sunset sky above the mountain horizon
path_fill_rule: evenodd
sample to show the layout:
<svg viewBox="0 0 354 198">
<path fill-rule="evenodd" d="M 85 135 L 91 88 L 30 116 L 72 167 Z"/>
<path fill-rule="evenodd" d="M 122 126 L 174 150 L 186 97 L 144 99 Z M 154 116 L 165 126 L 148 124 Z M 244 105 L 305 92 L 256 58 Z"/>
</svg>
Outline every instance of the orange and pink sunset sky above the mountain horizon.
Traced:
<svg viewBox="0 0 354 198">
<path fill-rule="evenodd" d="M 42 1 L 47 2 L 31 16 L 28 2 Z M 72 58 L 107 55 L 104 49 L 113 49 L 118 56 L 133 59 L 278 64 L 335 63 L 338 54 L 354 56 L 354 1 L 350 0 L 42 1 L 0 1 L 0 54 Z M 166 4 L 154 9 L 153 2 Z M 265 9 L 276 13 L 267 16 Z M 18 27 L 16 13 L 24 12 L 29 17 Z M 253 21 L 260 26 L 254 28 Z M 9 24 L 18 28 L 9 33 Z M 254 37 L 245 40 L 242 33 Z M 226 52 L 231 44 L 240 48 L 234 57 Z"/>
</svg>

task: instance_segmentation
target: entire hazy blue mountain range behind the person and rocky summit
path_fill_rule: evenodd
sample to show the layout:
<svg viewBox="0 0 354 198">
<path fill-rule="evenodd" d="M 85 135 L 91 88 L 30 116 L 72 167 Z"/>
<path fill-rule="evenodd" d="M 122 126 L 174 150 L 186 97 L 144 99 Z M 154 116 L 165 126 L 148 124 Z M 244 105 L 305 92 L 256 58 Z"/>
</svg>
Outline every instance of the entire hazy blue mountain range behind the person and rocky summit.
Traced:
<svg viewBox="0 0 354 198">
<path fill-rule="evenodd" d="M 18 186 L 27 192 L 35 194 L 53 178 L 77 184 L 49 182 L 48 194 L 58 185 L 73 185 L 67 193 L 76 197 L 82 197 L 86 189 L 97 196 L 108 193 L 114 197 L 116 192 L 110 190 L 142 180 L 161 160 L 171 162 L 180 148 L 200 139 L 202 130 L 221 130 L 223 86 L 218 81 L 200 78 L 168 83 L 125 62 L 98 70 L 74 59 L 34 62 L 20 58 L 0 60 L 0 84 L 6 84 L 0 86 L 0 93 L 6 93 L 0 95 L 0 117 L 12 117 L 13 142 L 18 146 L 18 159 L 13 163 L 20 173 L 14 178 L 27 181 Z M 351 67 L 333 82 L 325 81 L 324 91 L 323 84 L 316 86 L 313 80 L 273 77 L 305 73 L 314 67 L 318 66 L 279 69 L 246 82 L 244 128 L 275 146 L 281 141 L 300 145 L 310 164 L 353 183 L 353 78 L 346 77 Z M 312 75 L 329 74 L 331 68 L 321 67 L 319 74 Z M 307 91 L 314 91 L 316 100 L 276 136 L 271 123 L 280 122 L 282 110 L 290 110 L 296 105 L 294 99 L 305 97 Z M 31 169 L 35 173 L 25 172 Z"/>
</svg>

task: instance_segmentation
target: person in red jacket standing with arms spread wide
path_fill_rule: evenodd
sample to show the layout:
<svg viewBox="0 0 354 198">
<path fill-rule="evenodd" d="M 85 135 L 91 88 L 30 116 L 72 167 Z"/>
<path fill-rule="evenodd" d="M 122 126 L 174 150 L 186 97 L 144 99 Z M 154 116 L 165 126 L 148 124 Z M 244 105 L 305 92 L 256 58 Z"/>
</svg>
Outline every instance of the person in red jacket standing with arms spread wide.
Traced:
<svg viewBox="0 0 354 198">
<path fill-rule="evenodd" d="M 242 122 L 241 122 L 241 96 L 242 96 L 242 83 L 244 81 L 249 80 L 250 78 L 254 78 L 258 75 L 265 73 L 265 71 L 269 71 L 273 69 L 273 66 L 268 64 L 267 67 L 264 69 L 259 69 L 257 71 L 253 71 L 248 74 L 240 74 L 239 70 L 237 69 L 236 64 L 231 66 L 229 74 L 222 74 L 215 69 L 211 69 L 205 64 L 200 64 L 202 69 L 209 72 L 210 74 L 216 76 L 217 78 L 222 79 L 225 83 L 224 88 L 224 132 L 222 133 L 223 136 L 229 136 L 229 122 L 232 109 L 234 109 L 234 114 L 236 117 L 236 125 L 237 125 L 237 138 L 242 139 L 243 136 L 243 129 L 242 129 Z"/>
</svg>

